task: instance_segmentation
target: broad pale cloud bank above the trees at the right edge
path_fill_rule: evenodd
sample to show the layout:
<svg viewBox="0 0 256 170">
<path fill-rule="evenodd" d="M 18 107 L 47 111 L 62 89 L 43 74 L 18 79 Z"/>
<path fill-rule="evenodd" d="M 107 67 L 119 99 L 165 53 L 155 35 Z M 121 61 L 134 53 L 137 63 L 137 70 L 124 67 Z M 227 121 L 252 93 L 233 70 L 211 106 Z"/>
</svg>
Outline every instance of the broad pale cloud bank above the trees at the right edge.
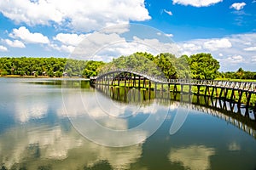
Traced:
<svg viewBox="0 0 256 170">
<path fill-rule="evenodd" d="M 229 37 L 194 39 L 178 42 L 183 54 L 210 53 L 220 62 L 222 71 L 236 71 L 245 65 L 255 71 L 256 34 L 235 34 Z"/>
</svg>

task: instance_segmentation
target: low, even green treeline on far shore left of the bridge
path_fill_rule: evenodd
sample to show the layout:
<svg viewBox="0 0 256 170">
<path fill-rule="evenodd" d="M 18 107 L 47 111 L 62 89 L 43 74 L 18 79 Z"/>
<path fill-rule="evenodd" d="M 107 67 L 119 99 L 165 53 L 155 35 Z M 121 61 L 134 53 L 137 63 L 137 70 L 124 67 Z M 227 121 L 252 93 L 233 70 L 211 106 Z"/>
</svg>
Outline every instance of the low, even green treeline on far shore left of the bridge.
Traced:
<svg viewBox="0 0 256 170">
<path fill-rule="evenodd" d="M 97 75 L 102 61 L 65 58 L 0 58 L 0 75 L 90 77 Z"/>
</svg>

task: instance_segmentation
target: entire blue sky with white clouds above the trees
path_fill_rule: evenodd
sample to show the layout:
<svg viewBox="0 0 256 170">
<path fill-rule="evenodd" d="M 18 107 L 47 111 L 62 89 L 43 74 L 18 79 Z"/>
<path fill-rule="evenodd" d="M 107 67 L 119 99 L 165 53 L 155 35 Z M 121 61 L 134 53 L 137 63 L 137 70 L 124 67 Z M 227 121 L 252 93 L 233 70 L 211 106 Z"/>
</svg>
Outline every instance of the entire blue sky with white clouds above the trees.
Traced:
<svg viewBox="0 0 256 170">
<path fill-rule="evenodd" d="M 256 71 L 255 9 L 256 0 L 1 0 L 0 57 L 68 58 L 82 44 L 97 60 L 210 53 L 220 71 Z"/>
</svg>

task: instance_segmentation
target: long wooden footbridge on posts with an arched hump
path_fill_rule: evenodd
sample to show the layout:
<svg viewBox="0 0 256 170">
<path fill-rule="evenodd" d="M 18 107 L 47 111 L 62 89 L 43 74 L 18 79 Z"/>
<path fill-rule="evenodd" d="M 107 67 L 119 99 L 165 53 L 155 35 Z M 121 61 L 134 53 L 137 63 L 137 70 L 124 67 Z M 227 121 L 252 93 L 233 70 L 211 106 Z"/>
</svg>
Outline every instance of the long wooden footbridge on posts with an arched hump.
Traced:
<svg viewBox="0 0 256 170">
<path fill-rule="evenodd" d="M 153 88 L 155 91 L 160 90 L 188 94 L 193 94 L 192 88 L 196 87 L 197 91 L 194 94 L 201 95 L 202 91 L 203 95 L 211 96 L 212 98 L 216 97 L 230 101 L 236 99 L 238 105 L 241 105 L 242 96 L 245 96 L 246 105 L 254 106 L 254 111 L 256 111 L 256 103 L 250 103 L 252 95 L 256 94 L 256 82 L 166 79 L 163 76 L 150 75 L 147 72 L 134 71 L 134 69 L 117 69 L 103 72 L 98 77 L 90 77 L 90 81 L 97 85 L 123 86 L 125 88 Z M 153 83 L 154 87 L 152 86 Z M 177 87 L 180 89 L 178 90 Z M 186 91 L 184 87 L 188 90 Z"/>
</svg>

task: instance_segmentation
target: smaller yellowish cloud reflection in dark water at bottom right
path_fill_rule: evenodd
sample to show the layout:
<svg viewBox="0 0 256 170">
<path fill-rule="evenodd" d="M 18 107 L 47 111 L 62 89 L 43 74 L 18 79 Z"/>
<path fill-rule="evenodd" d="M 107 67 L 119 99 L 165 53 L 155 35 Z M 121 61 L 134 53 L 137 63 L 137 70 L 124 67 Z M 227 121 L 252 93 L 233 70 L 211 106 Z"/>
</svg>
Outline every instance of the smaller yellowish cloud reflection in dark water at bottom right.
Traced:
<svg viewBox="0 0 256 170">
<path fill-rule="evenodd" d="M 210 156 L 215 154 L 213 148 L 204 145 L 190 145 L 185 148 L 172 149 L 169 159 L 172 162 L 180 162 L 191 170 L 210 169 Z"/>
</svg>

